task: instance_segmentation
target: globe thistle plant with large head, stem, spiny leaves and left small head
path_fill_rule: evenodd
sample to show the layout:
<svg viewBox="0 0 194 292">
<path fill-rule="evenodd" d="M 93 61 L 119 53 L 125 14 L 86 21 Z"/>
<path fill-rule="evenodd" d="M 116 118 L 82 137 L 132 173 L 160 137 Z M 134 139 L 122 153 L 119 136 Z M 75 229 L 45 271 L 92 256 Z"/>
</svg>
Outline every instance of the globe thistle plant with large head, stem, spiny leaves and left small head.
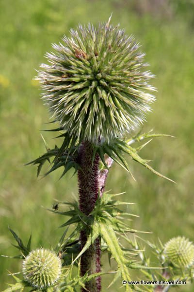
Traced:
<svg viewBox="0 0 194 292">
<path fill-rule="evenodd" d="M 114 258 L 117 264 L 110 286 L 119 277 L 130 281 L 130 269 L 147 270 L 149 278 L 150 271 L 156 268 L 149 265 L 136 237 L 132 241 L 127 236 L 140 232 L 129 226 L 131 216 L 135 215 L 120 209 L 130 203 L 116 200 L 115 196 L 120 194 L 104 191 L 113 162 L 131 174 L 126 154 L 156 175 L 172 181 L 139 156 L 149 141 L 132 147 L 135 142 L 168 135 L 140 131 L 128 137 L 151 111 L 150 105 L 155 100 L 151 92 L 155 88 L 149 81 L 154 76 L 146 71 L 145 54 L 140 52 L 134 37 L 127 36 L 110 21 L 111 18 L 97 27 L 89 24 L 71 29 L 71 37 L 64 36 L 61 43 L 53 44 L 54 53 L 46 54 L 49 64 L 40 65 L 37 79 L 43 89 L 42 98 L 53 123 L 60 125 L 51 131 L 59 131 L 58 137 L 63 142 L 50 149 L 44 141 L 47 152 L 29 164 L 38 165 L 37 175 L 47 161 L 51 166 L 45 175 L 62 167 L 63 177 L 73 168 L 74 174 L 78 173 L 79 202 L 57 202 L 57 207 L 50 210 L 70 217 L 60 226 L 67 229 L 54 249 L 58 258 L 44 249 L 30 252 L 30 243 L 25 247 L 11 230 L 21 257 L 25 258 L 24 281 L 16 279 L 20 288 L 30 285 L 45 290 L 55 285 L 57 291 L 74 292 L 79 286 L 82 292 L 100 292 L 101 275 L 105 274 L 101 271 L 101 253 L 108 253 L 109 260 Z M 58 205 L 70 209 L 61 212 Z M 67 236 L 70 225 L 74 229 Z M 127 246 L 119 238 L 125 239 Z M 73 266 L 78 269 L 76 277 L 72 276 Z M 132 284 L 125 286 L 125 291 L 132 289 L 142 291 Z"/>
</svg>

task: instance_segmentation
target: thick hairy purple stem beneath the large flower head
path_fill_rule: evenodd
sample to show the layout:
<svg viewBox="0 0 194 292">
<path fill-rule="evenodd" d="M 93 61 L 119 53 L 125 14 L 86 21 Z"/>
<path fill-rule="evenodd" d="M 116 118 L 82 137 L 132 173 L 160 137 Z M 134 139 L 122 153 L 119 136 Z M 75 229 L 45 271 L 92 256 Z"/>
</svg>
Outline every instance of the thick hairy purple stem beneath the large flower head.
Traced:
<svg viewBox="0 0 194 292">
<path fill-rule="evenodd" d="M 92 164 L 93 146 L 88 141 L 82 142 L 79 149 L 79 163 L 81 170 L 78 171 L 79 202 L 80 210 L 89 215 L 94 209 L 98 196 L 98 168 L 99 156 L 96 155 Z M 87 230 L 81 231 L 81 249 L 87 240 Z M 85 273 L 94 274 L 100 272 L 100 242 L 97 238 L 90 248 L 81 256 L 81 276 Z M 82 292 L 100 292 L 101 278 L 97 277 L 85 284 Z"/>
</svg>

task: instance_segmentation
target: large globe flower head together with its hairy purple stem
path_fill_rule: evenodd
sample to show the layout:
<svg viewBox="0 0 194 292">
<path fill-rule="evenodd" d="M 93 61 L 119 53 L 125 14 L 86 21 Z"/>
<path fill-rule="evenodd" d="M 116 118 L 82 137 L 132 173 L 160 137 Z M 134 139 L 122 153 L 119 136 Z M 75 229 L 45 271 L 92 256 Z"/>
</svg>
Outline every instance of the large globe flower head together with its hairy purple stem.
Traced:
<svg viewBox="0 0 194 292">
<path fill-rule="evenodd" d="M 50 65 L 42 64 L 38 73 L 43 99 L 65 130 L 65 146 L 79 146 L 80 210 L 87 216 L 98 196 L 99 155 L 105 165 L 103 150 L 108 155 L 113 151 L 113 157 L 124 162 L 120 153 L 124 145 L 119 149 L 115 141 L 142 123 L 154 101 L 147 92 L 154 90 L 147 83 L 153 75 L 143 71 L 146 64 L 139 45 L 109 22 L 72 29 L 71 38 L 63 37 L 63 43 L 53 45 L 55 53 L 47 54 Z M 84 229 L 81 248 L 86 241 Z M 100 272 L 99 239 L 81 257 L 81 275 L 87 271 Z M 99 291 L 100 279 L 87 289 Z"/>
</svg>

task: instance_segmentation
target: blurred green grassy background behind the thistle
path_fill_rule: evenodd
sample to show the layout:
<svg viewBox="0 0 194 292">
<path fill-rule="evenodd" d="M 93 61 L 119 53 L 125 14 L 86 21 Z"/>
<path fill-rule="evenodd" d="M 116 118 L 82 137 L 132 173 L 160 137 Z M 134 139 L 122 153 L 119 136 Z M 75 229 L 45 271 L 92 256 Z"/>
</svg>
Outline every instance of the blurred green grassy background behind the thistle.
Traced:
<svg viewBox="0 0 194 292">
<path fill-rule="evenodd" d="M 145 239 L 156 242 L 160 237 L 165 242 L 184 235 L 194 240 L 194 1 L 0 0 L 0 254 L 17 254 L 8 226 L 24 242 L 32 233 L 33 248 L 54 246 L 62 233 L 57 227 L 65 219 L 42 206 L 50 208 L 54 198 L 77 197 L 76 176 L 68 174 L 58 181 L 59 171 L 40 180 L 36 167 L 23 166 L 45 151 L 39 130 L 48 128 L 43 123 L 49 120 L 32 78 L 45 62 L 45 52 L 52 50 L 51 43 L 69 35 L 70 27 L 107 21 L 112 12 L 112 23 L 120 23 L 142 44 L 157 76 L 157 102 L 144 131 L 154 128 L 176 136 L 153 140 L 141 156 L 153 160 L 151 165 L 177 184 L 130 162 L 136 182 L 113 165 L 106 189 L 126 191 L 122 199 L 136 203 L 132 211 L 140 218 L 132 226 L 153 232 Z M 54 134 L 43 135 L 54 146 Z M 16 259 L 0 257 L 0 289 L 12 281 L 7 270 L 16 273 L 20 265 Z M 192 292 L 194 285 L 179 291 Z"/>
</svg>

